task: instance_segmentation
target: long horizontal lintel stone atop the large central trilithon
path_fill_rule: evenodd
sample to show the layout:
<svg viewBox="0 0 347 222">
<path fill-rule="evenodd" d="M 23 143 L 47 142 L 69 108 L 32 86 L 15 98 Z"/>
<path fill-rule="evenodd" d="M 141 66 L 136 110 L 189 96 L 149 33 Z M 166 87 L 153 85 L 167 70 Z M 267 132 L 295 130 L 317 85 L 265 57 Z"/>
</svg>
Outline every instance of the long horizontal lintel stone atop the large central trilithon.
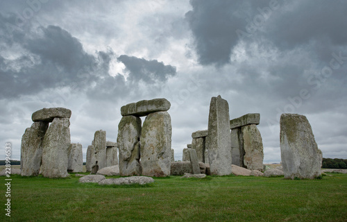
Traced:
<svg viewBox="0 0 347 222">
<path fill-rule="evenodd" d="M 129 103 L 121 107 L 121 115 L 144 117 L 153 112 L 169 110 L 171 103 L 167 99 L 142 100 L 137 103 Z"/>
</svg>

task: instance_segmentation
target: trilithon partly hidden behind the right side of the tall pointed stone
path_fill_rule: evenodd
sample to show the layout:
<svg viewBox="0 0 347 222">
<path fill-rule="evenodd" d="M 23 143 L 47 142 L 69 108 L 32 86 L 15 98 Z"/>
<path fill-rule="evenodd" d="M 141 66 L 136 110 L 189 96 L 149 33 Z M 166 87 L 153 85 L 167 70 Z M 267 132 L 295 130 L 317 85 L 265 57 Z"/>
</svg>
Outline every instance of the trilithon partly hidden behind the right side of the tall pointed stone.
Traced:
<svg viewBox="0 0 347 222">
<path fill-rule="evenodd" d="M 250 170 L 263 170 L 262 136 L 257 129 L 259 113 L 248 113 L 230 120 L 232 164 Z"/>
</svg>

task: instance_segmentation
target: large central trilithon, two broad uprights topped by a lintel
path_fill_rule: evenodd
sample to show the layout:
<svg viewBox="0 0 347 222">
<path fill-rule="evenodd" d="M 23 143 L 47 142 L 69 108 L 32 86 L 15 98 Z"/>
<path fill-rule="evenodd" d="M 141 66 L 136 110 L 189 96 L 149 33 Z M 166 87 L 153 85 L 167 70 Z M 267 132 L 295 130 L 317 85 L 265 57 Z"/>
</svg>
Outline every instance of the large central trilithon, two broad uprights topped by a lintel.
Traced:
<svg viewBox="0 0 347 222">
<path fill-rule="evenodd" d="M 118 125 L 121 176 L 170 175 L 171 117 L 167 99 L 138 101 L 121 107 Z M 146 116 L 143 126 L 139 117 Z M 141 159 L 141 162 L 140 162 Z"/>
</svg>

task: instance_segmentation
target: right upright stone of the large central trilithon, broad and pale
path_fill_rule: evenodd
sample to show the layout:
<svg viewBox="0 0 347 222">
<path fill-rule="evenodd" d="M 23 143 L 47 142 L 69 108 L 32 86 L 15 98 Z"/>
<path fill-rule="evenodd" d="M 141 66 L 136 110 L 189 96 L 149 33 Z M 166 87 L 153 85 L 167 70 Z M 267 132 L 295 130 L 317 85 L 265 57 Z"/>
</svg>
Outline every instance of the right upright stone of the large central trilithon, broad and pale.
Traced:
<svg viewBox="0 0 347 222">
<path fill-rule="evenodd" d="M 171 117 L 168 112 L 149 114 L 142 126 L 141 164 L 144 176 L 170 175 Z"/>
</svg>

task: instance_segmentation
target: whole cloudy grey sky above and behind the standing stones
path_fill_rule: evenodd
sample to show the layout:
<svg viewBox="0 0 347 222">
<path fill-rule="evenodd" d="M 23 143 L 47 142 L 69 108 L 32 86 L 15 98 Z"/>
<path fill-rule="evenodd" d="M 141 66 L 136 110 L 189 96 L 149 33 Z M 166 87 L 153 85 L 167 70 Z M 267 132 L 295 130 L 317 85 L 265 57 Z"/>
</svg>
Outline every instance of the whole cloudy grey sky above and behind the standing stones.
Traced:
<svg viewBox="0 0 347 222">
<path fill-rule="evenodd" d="M 19 160 L 36 110 L 72 111 L 83 155 L 117 141 L 120 108 L 171 102 L 175 159 L 208 127 L 260 113 L 264 163 L 280 162 L 279 118 L 304 114 L 323 157 L 347 159 L 346 1 L 0 1 L 0 144 Z M 143 121 L 144 119 L 142 119 Z"/>
</svg>

